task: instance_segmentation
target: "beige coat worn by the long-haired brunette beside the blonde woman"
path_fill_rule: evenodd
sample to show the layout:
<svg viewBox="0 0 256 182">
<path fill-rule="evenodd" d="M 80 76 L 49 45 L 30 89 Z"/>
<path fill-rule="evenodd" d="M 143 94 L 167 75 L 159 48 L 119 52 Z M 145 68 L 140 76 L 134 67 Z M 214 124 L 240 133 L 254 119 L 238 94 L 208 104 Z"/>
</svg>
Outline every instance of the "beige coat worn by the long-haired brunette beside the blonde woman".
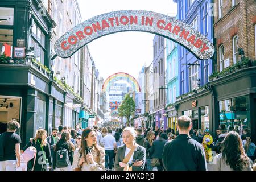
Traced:
<svg viewBox="0 0 256 182">
<path fill-rule="evenodd" d="M 84 164 L 82 164 L 82 171 L 105 171 L 105 150 L 100 146 L 97 146 L 97 147 L 101 153 L 100 163 L 87 164 L 85 162 Z M 73 166 L 72 166 L 73 169 L 78 167 L 77 164 L 79 163 L 80 155 L 81 154 L 79 152 L 79 148 L 77 148 L 73 156 Z M 94 147 L 92 148 L 92 155 L 93 155 L 93 160 L 96 162 L 97 152 Z"/>
</svg>

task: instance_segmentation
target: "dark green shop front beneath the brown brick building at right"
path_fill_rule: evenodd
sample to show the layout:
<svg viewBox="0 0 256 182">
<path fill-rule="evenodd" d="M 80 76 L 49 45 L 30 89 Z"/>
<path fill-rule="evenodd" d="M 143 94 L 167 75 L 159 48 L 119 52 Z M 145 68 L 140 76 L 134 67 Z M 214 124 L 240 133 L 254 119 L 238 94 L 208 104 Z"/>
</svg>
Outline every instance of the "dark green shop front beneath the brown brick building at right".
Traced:
<svg viewBox="0 0 256 182">
<path fill-rule="evenodd" d="M 239 134 L 249 130 L 256 142 L 256 67 L 249 67 L 210 82 L 215 102 L 215 127 Z"/>
</svg>

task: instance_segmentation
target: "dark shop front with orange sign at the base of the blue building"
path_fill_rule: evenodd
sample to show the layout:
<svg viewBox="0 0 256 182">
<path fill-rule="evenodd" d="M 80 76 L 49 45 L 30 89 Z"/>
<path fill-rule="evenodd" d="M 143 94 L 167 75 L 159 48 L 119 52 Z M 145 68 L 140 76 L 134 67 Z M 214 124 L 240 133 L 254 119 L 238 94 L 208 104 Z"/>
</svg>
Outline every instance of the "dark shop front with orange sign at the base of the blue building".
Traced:
<svg viewBox="0 0 256 182">
<path fill-rule="evenodd" d="M 214 133 L 212 120 L 212 93 L 210 89 L 192 94 L 175 102 L 178 105 L 178 117 L 187 115 L 192 120 L 192 129 L 209 129 Z"/>
</svg>

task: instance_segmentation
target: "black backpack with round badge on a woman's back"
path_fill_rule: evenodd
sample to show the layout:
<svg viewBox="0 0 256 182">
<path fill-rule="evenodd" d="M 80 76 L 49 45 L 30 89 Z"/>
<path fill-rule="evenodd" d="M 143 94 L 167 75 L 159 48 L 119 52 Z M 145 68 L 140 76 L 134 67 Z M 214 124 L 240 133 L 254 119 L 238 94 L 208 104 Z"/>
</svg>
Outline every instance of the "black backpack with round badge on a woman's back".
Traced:
<svg viewBox="0 0 256 182">
<path fill-rule="evenodd" d="M 56 167 L 68 167 L 70 164 L 68 150 L 66 148 L 59 148 L 56 152 Z"/>
</svg>

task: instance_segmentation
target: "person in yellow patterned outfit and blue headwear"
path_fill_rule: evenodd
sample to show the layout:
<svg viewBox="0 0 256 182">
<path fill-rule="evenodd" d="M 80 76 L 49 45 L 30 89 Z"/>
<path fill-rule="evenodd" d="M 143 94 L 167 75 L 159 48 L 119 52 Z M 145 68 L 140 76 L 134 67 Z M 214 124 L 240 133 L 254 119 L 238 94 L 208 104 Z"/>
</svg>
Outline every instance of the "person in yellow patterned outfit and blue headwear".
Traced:
<svg viewBox="0 0 256 182">
<path fill-rule="evenodd" d="M 203 142 L 202 145 L 204 147 L 204 152 L 205 152 L 205 156 L 206 156 L 206 160 L 207 162 L 212 162 L 213 158 L 212 158 L 212 148 L 213 146 L 213 138 L 212 135 L 210 135 L 209 133 L 209 129 L 205 129 L 204 130 L 204 137 L 203 137 Z"/>
</svg>

